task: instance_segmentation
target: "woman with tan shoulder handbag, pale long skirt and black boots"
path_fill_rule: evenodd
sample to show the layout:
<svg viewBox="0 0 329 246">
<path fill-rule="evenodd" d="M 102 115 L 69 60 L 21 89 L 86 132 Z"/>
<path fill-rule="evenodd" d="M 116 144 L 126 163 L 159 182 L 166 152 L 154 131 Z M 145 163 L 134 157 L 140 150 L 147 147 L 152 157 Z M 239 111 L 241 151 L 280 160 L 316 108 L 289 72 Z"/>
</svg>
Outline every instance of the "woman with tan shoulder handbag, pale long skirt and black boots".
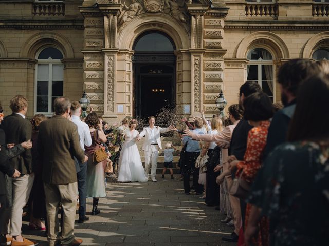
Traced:
<svg viewBox="0 0 329 246">
<path fill-rule="evenodd" d="M 87 197 L 93 197 L 92 215 L 97 215 L 100 213 L 97 209 L 99 198 L 106 196 L 104 180 L 107 155 L 102 147 L 102 143 L 106 142 L 106 136 L 96 113 L 88 114 L 85 123 L 88 124 L 92 135 L 92 145 L 85 146 L 85 154 L 88 156 Z"/>
</svg>

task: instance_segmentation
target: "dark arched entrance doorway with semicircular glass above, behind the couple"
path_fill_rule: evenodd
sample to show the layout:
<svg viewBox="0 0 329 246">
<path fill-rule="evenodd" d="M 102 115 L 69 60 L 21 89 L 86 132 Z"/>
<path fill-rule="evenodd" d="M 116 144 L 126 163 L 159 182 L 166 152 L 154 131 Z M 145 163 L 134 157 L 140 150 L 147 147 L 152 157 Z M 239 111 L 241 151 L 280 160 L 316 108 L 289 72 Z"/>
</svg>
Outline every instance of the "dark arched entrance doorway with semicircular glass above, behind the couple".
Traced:
<svg viewBox="0 0 329 246">
<path fill-rule="evenodd" d="M 133 45 L 134 116 L 156 115 L 174 106 L 176 95 L 176 49 L 173 40 L 158 31 L 144 32 Z"/>
</svg>

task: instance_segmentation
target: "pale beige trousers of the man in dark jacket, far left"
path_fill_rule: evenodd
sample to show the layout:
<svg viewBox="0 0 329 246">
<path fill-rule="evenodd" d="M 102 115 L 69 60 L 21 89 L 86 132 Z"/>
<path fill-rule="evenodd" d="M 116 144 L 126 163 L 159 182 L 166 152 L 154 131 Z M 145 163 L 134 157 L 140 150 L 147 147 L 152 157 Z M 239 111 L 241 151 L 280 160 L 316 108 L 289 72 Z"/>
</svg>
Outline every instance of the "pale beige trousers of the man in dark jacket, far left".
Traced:
<svg viewBox="0 0 329 246">
<path fill-rule="evenodd" d="M 29 200 L 34 181 L 34 173 L 25 174 L 12 179 L 12 207 L 10 218 L 10 234 L 22 235 L 23 208 Z"/>
</svg>

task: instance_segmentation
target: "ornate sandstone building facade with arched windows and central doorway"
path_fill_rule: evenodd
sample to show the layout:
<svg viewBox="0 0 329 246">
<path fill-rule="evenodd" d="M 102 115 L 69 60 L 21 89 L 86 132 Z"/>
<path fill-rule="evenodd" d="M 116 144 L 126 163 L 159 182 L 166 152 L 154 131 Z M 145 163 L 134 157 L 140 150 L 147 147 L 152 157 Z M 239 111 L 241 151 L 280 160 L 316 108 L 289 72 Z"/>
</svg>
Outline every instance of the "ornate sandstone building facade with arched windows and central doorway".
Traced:
<svg viewBox="0 0 329 246">
<path fill-rule="evenodd" d="M 28 117 L 52 100 L 79 100 L 109 121 L 166 103 L 211 117 L 222 89 L 236 103 L 246 80 L 280 100 L 278 67 L 329 58 L 325 1 L 0 1 L 0 101 L 29 100 Z"/>
</svg>

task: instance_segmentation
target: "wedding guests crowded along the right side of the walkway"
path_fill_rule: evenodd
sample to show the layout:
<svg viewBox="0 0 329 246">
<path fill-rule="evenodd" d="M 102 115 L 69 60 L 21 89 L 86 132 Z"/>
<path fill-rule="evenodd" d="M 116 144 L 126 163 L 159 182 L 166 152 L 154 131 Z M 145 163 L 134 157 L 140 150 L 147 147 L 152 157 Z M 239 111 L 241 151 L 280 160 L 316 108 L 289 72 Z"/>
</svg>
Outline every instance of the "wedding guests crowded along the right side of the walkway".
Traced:
<svg viewBox="0 0 329 246">
<path fill-rule="evenodd" d="M 247 81 L 240 87 L 239 105 L 228 109 L 232 125 L 216 134 L 184 130 L 183 136 L 191 141 L 215 141 L 214 150 L 219 149 L 219 165 L 214 167 L 207 159 L 205 203 L 214 198 L 208 179 L 222 170 L 216 178 L 219 191 L 211 191 L 227 214 L 222 222 L 234 221 L 234 231 L 222 240 L 271 246 L 327 242 L 329 130 L 320 125 L 329 123 L 328 74 L 327 60 L 289 60 L 278 72 L 283 106 L 272 104 L 258 83 Z M 321 123 L 315 121 L 316 115 L 322 115 Z"/>
</svg>

